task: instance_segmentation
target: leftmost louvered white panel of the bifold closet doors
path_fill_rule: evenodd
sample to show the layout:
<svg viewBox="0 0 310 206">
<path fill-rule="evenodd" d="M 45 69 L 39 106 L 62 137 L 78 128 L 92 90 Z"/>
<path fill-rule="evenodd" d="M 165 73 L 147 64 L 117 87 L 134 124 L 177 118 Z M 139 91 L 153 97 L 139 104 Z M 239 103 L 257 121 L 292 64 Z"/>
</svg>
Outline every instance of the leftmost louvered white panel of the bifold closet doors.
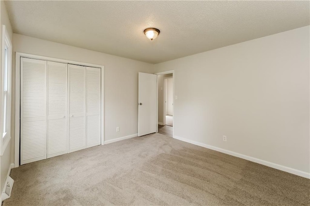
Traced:
<svg viewBox="0 0 310 206">
<path fill-rule="evenodd" d="M 47 158 L 47 61 L 20 63 L 20 164 L 25 164 Z"/>
</svg>

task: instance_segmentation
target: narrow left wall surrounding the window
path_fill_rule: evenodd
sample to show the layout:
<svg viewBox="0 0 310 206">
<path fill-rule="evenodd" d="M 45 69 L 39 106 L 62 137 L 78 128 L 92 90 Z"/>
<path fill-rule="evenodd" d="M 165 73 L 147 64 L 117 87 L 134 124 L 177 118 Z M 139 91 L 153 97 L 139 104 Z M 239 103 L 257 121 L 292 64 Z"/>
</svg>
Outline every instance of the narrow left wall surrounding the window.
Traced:
<svg viewBox="0 0 310 206">
<path fill-rule="evenodd" d="M 1 25 L 0 25 L 1 26 L 1 29 L 0 29 L 1 30 L 1 33 L 0 33 L 0 59 L 1 59 L 1 57 L 2 57 L 2 25 L 5 25 L 5 27 L 8 31 L 8 34 L 10 36 L 10 39 L 13 43 L 13 32 L 12 32 L 11 23 L 10 23 L 10 20 L 9 20 L 7 11 L 6 11 L 4 1 L 2 1 L 2 0 L 0 1 L 0 14 L 1 14 L 0 15 L 0 22 L 1 22 Z M 13 131 L 14 131 L 14 128 L 13 128 Z M 0 192 L 2 192 L 2 189 L 4 186 L 4 181 L 5 181 L 6 175 L 8 173 L 10 164 L 11 164 L 11 149 L 10 149 L 11 143 L 12 143 L 12 141 L 9 142 L 9 144 L 6 147 L 3 155 L 0 156 Z"/>
</svg>

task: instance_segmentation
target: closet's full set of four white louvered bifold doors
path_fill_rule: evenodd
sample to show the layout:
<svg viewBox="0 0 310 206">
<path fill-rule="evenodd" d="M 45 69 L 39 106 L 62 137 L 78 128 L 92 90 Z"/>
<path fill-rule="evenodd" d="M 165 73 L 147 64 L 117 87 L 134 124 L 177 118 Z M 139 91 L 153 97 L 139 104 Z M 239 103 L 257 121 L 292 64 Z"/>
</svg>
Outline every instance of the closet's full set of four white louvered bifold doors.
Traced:
<svg viewBox="0 0 310 206">
<path fill-rule="evenodd" d="M 20 164 L 101 144 L 101 69 L 20 59 Z"/>
</svg>

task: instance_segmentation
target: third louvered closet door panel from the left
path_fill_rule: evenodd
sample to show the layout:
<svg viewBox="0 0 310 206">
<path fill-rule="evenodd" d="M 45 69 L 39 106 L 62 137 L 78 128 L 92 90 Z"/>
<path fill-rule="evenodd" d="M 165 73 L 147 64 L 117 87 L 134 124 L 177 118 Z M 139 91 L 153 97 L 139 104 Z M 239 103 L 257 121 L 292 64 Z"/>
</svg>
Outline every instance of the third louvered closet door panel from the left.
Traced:
<svg viewBox="0 0 310 206">
<path fill-rule="evenodd" d="M 69 152 L 86 148 L 85 67 L 69 68 Z"/>
</svg>

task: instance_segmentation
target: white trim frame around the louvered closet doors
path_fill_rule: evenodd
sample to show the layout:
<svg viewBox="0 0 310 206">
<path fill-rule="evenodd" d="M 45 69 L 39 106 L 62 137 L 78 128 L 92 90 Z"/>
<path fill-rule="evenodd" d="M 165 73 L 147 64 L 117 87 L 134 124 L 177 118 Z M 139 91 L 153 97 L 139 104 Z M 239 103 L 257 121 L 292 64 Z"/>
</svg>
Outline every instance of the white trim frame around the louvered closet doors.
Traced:
<svg viewBox="0 0 310 206">
<path fill-rule="evenodd" d="M 15 135 L 14 135 L 14 167 L 19 167 L 19 148 L 20 148 L 20 58 L 40 59 L 55 61 L 60 63 L 76 64 L 86 67 L 96 67 L 101 69 L 101 145 L 104 145 L 104 65 L 90 64 L 79 61 L 58 59 L 16 52 L 15 55 Z"/>
</svg>

